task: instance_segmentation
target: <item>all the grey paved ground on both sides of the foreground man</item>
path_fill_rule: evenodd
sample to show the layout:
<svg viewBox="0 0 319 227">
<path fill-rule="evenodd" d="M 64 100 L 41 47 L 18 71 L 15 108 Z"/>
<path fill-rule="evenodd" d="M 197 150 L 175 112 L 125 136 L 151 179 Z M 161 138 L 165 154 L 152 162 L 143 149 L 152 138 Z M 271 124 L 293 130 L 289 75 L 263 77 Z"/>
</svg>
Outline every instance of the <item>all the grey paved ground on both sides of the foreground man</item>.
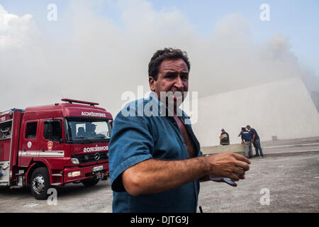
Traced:
<svg viewBox="0 0 319 227">
<path fill-rule="evenodd" d="M 201 184 L 198 206 L 203 212 L 319 211 L 319 138 L 269 141 L 262 146 L 265 158 L 251 160 L 246 179 L 237 187 Z M 34 199 L 29 189 L 0 188 L 0 212 L 111 212 L 111 202 L 109 180 L 90 188 L 58 187 L 57 205 Z"/>
</svg>

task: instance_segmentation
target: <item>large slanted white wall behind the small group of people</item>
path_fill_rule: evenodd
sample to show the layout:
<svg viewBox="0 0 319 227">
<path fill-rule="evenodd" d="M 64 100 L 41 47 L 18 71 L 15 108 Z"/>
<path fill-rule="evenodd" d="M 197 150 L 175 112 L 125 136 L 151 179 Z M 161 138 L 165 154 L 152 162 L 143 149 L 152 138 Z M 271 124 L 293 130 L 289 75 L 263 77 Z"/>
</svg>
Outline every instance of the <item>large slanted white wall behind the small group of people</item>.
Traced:
<svg viewBox="0 0 319 227">
<path fill-rule="evenodd" d="M 249 124 L 261 140 L 319 136 L 319 114 L 299 77 L 198 99 L 194 132 L 202 147 L 219 145 L 220 129 L 240 143 L 240 127 Z"/>
</svg>

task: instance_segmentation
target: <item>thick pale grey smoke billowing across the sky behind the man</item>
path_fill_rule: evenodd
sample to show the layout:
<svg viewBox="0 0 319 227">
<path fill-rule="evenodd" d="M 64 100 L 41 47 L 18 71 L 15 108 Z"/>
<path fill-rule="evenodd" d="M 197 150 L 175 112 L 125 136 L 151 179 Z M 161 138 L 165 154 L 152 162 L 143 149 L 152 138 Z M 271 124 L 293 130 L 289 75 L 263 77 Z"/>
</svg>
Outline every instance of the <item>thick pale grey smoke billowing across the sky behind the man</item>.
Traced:
<svg viewBox="0 0 319 227">
<path fill-rule="evenodd" d="M 254 43 L 240 14 L 221 18 L 203 37 L 178 9 L 155 11 L 145 0 L 104 4 L 116 9 L 121 23 L 96 16 L 87 1 L 73 1 L 67 15 L 57 18 L 57 35 L 41 29 L 31 15 L 13 15 L 0 5 L 1 110 L 68 97 L 99 102 L 114 116 L 127 101 L 121 100 L 123 92 L 137 94 L 138 85 L 148 91 L 148 62 L 164 47 L 188 52 L 190 89 L 199 97 L 308 78 L 289 38 L 278 33 Z"/>
</svg>

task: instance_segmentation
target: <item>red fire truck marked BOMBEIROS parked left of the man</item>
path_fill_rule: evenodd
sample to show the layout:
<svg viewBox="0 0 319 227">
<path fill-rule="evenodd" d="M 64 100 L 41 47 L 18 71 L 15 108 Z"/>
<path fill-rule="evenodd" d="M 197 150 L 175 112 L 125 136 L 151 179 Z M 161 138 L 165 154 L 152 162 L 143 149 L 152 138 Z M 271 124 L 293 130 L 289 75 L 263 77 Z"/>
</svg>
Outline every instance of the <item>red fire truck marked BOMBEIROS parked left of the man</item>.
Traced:
<svg viewBox="0 0 319 227">
<path fill-rule="evenodd" d="M 30 187 L 46 199 L 50 187 L 107 179 L 111 114 L 96 103 L 62 101 L 0 113 L 0 186 Z"/>
</svg>

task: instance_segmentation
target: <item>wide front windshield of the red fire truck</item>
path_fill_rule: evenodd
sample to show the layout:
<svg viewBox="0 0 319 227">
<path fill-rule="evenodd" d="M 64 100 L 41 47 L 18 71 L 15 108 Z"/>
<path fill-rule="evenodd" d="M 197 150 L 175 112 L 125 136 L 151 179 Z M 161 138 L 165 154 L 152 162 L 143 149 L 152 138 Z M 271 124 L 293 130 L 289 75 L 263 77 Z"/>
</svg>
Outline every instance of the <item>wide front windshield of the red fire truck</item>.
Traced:
<svg viewBox="0 0 319 227">
<path fill-rule="evenodd" d="M 67 118 L 69 143 L 103 143 L 111 138 L 111 126 L 107 120 Z"/>
</svg>

